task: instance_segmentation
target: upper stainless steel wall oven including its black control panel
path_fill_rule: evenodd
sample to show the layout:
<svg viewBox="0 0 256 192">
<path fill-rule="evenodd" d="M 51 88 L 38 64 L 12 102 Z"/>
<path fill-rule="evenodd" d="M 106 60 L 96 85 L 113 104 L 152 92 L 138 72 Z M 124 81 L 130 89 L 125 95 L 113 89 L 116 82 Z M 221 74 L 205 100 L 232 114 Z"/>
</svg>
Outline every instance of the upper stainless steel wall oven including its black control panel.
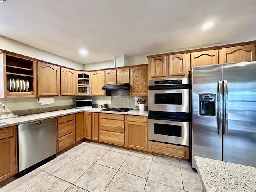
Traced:
<svg viewBox="0 0 256 192">
<path fill-rule="evenodd" d="M 149 80 L 148 110 L 189 112 L 188 78 Z"/>
</svg>

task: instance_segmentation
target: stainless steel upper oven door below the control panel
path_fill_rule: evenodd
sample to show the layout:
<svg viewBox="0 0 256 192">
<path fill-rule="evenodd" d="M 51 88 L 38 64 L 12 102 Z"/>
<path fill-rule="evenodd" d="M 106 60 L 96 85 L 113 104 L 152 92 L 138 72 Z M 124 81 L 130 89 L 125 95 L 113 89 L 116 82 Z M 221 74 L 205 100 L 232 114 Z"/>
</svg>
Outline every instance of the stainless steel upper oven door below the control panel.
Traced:
<svg viewBox="0 0 256 192">
<path fill-rule="evenodd" d="M 149 111 L 189 112 L 189 89 L 150 90 Z"/>
</svg>

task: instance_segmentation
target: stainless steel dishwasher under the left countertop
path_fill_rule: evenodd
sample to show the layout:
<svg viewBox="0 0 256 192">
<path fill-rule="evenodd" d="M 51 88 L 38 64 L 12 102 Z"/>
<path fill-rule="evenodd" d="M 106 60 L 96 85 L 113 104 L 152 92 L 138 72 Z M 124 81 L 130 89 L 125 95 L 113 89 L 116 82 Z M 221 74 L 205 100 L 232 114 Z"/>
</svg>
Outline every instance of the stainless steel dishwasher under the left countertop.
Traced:
<svg viewBox="0 0 256 192">
<path fill-rule="evenodd" d="M 56 118 L 18 126 L 19 176 L 56 158 L 56 129 Z"/>
</svg>

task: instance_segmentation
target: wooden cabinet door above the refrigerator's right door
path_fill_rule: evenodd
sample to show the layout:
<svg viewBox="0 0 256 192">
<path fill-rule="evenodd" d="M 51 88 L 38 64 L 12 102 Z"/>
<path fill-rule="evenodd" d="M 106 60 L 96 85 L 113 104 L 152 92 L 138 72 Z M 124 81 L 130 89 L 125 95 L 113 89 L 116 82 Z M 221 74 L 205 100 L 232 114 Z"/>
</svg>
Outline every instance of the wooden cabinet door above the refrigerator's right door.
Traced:
<svg viewBox="0 0 256 192">
<path fill-rule="evenodd" d="M 223 63 L 255 61 L 255 44 L 222 49 Z"/>
</svg>

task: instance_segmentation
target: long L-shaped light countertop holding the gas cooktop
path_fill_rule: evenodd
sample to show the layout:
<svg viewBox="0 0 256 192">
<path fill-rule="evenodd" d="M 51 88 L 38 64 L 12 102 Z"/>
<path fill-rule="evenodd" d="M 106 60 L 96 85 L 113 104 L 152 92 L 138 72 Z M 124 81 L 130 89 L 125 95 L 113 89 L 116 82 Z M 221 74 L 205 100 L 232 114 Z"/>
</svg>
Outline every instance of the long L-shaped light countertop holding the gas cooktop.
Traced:
<svg viewBox="0 0 256 192">
<path fill-rule="evenodd" d="M 0 122 L 5 122 L 6 124 L 0 125 L 0 128 L 14 126 L 14 125 L 18 125 L 18 124 L 24 124 L 24 123 L 33 122 L 33 121 L 49 119 L 49 118 L 54 118 L 54 117 L 59 117 L 59 116 L 78 113 L 78 112 L 98 112 L 98 113 L 148 116 L 148 111 L 139 111 L 139 110 L 135 110 L 135 109 L 128 111 L 128 112 L 113 112 L 113 111 L 100 111 L 100 109 L 96 108 L 96 107 L 86 108 L 86 109 L 72 108 L 72 109 L 65 109 L 65 110 L 39 113 L 39 114 L 33 114 L 33 115 L 20 116 L 20 117 L 15 117 L 15 118 L 1 119 Z"/>
</svg>

